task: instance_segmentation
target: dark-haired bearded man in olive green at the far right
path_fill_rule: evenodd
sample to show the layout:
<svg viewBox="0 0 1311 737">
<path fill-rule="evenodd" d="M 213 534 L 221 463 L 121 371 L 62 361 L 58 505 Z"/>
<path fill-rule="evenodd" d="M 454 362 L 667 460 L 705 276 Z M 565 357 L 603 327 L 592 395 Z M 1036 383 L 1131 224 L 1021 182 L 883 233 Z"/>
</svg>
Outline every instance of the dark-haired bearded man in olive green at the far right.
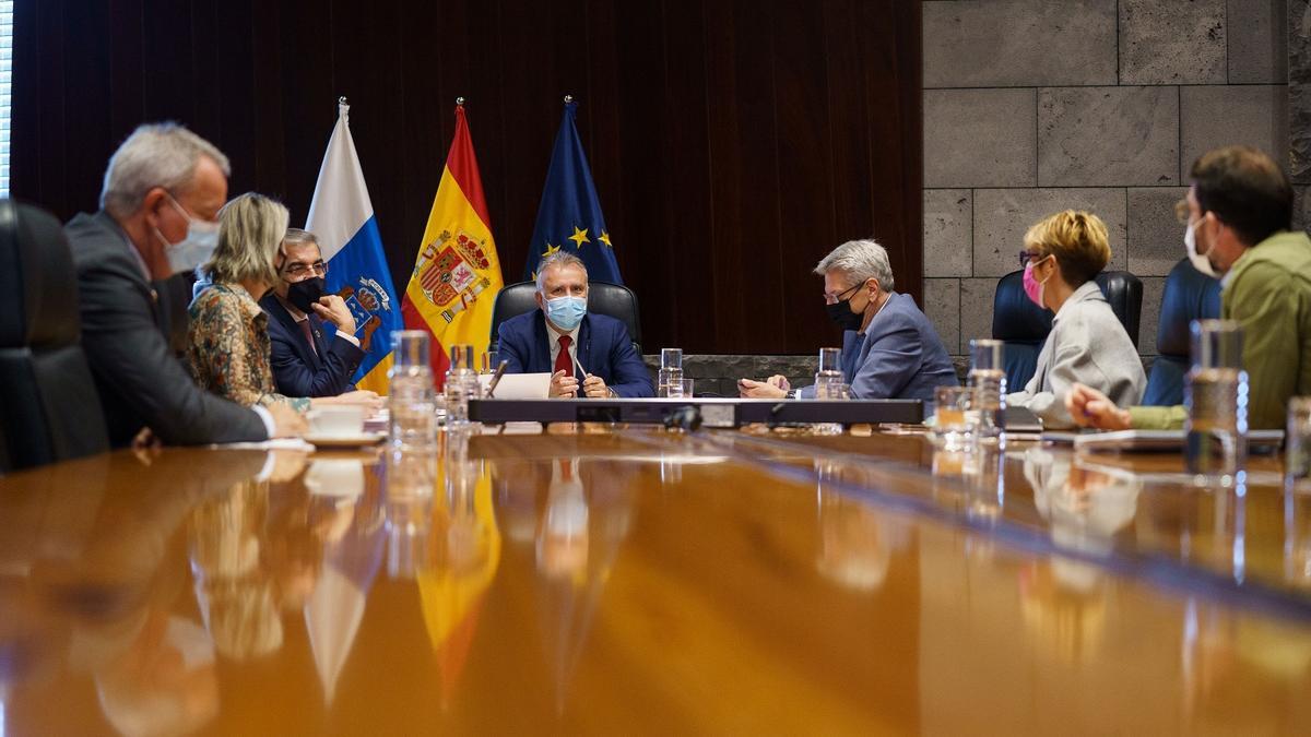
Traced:
<svg viewBox="0 0 1311 737">
<path fill-rule="evenodd" d="M 1311 393 L 1311 240 L 1291 232 L 1293 186 L 1273 159 L 1245 146 L 1202 155 L 1176 206 L 1193 266 L 1221 279 L 1221 317 L 1243 328 L 1248 426 L 1283 426 L 1289 397 Z M 1103 430 L 1177 429 L 1183 407 L 1121 409 L 1075 384 L 1075 422 Z"/>
</svg>

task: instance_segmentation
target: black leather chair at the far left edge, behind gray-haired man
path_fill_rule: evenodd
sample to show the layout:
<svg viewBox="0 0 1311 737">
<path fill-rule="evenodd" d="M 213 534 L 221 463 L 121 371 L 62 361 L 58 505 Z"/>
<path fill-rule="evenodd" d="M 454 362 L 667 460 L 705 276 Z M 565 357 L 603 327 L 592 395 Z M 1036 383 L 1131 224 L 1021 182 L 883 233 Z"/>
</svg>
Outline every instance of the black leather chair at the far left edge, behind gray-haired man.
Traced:
<svg viewBox="0 0 1311 737">
<path fill-rule="evenodd" d="M 63 227 L 0 199 L 0 469 L 109 450 L 80 334 Z"/>
</svg>

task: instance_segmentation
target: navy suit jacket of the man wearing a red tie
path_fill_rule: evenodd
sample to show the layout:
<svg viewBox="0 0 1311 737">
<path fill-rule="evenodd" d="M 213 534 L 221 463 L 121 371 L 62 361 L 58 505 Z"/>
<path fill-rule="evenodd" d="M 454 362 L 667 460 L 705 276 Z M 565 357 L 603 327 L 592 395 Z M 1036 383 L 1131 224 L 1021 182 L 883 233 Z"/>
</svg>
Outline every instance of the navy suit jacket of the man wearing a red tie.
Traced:
<svg viewBox="0 0 1311 737">
<path fill-rule="evenodd" d="M 547 317 L 541 309 L 524 312 L 501 323 L 497 330 L 501 346 L 497 355 L 507 361 L 507 374 L 549 374 L 551 345 L 547 336 Z M 633 350 L 624 324 L 606 315 L 589 312 L 578 327 L 578 363 L 606 380 L 606 386 L 625 397 L 656 396 L 656 386 Z M 577 368 L 574 370 L 577 374 Z M 582 382 L 583 376 L 577 376 Z"/>
</svg>

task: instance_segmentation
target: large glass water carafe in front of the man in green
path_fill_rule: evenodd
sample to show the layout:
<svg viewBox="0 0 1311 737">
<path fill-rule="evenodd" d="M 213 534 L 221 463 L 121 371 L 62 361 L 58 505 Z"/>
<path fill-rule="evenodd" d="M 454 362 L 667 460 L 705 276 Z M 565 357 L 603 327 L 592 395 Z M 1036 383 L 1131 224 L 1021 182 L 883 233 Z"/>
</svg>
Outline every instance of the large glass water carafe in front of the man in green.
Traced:
<svg viewBox="0 0 1311 737">
<path fill-rule="evenodd" d="M 1247 464 L 1247 371 L 1235 320 L 1193 320 L 1193 367 L 1184 379 L 1188 471 L 1230 484 Z"/>
</svg>

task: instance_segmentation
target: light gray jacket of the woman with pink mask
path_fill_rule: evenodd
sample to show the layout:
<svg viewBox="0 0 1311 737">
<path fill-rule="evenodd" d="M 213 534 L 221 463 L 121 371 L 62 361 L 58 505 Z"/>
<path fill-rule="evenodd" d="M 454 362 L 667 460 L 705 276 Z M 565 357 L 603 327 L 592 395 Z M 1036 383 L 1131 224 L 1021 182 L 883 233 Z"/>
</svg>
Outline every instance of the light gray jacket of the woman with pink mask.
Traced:
<svg viewBox="0 0 1311 737">
<path fill-rule="evenodd" d="M 1104 392 L 1117 407 L 1138 404 L 1147 388 L 1138 349 L 1096 282 L 1086 282 L 1061 306 L 1033 378 L 1006 403 L 1029 408 L 1045 428 L 1068 428 L 1074 422 L 1065 396 L 1075 382 Z"/>
</svg>

